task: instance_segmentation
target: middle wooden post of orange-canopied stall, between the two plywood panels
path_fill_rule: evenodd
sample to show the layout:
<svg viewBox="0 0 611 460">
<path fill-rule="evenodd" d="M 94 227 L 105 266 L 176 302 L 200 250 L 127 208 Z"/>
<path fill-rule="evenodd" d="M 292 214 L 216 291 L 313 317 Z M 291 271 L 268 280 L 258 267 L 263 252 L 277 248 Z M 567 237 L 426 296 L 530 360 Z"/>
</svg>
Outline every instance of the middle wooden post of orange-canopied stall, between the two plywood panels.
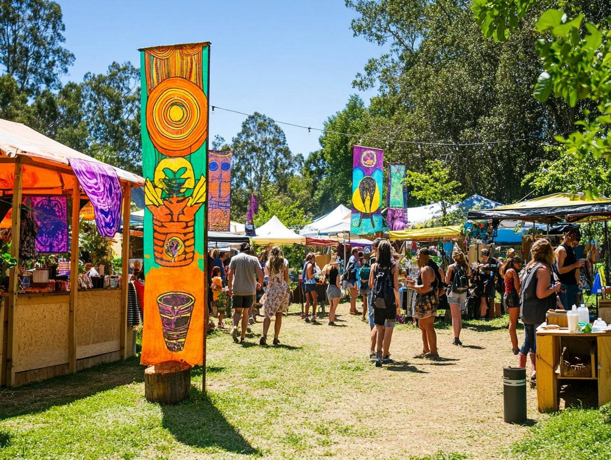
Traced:
<svg viewBox="0 0 611 460">
<path fill-rule="evenodd" d="M 72 183 L 72 233 L 70 239 L 70 316 L 68 316 L 68 371 L 76 372 L 76 305 L 78 302 L 79 211 L 81 190 L 76 176 Z"/>
</svg>

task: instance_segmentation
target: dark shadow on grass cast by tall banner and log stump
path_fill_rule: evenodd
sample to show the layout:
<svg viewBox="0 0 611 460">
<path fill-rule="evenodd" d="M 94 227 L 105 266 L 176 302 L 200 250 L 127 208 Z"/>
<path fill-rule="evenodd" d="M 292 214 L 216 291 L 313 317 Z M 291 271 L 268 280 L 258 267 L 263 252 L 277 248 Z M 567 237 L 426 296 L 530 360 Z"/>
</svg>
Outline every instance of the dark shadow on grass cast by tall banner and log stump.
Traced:
<svg viewBox="0 0 611 460">
<path fill-rule="evenodd" d="M 163 427 L 183 444 L 201 448 L 218 447 L 243 455 L 262 455 L 227 421 L 210 398 L 196 387 L 191 387 L 189 400 L 160 407 Z"/>
</svg>

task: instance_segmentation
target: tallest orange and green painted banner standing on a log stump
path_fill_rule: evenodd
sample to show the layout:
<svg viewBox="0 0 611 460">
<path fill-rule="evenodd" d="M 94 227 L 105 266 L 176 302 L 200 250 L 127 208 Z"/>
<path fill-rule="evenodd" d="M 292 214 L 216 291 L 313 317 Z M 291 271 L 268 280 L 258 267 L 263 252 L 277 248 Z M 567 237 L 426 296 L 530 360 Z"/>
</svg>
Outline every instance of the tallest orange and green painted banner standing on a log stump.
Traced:
<svg viewBox="0 0 611 460">
<path fill-rule="evenodd" d="M 203 362 L 210 43 L 141 49 L 143 364 Z"/>
</svg>

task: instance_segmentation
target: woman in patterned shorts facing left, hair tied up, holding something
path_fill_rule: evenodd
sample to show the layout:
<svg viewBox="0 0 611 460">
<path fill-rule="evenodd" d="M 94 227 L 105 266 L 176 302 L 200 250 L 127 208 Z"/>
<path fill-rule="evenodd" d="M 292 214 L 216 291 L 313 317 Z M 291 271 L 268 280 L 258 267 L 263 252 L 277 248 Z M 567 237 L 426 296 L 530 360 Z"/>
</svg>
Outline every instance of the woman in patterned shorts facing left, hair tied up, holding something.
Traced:
<svg viewBox="0 0 611 460">
<path fill-rule="evenodd" d="M 435 316 L 439 305 L 439 281 L 433 268 L 428 264 L 430 252 L 423 247 L 416 254 L 416 261 L 420 268 L 417 284 L 414 281 L 408 283 L 408 288 L 416 291 L 415 315 L 418 319 L 418 327 L 422 332 L 422 353 L 415 358 L 438 358 L 437 334 L 435 334 Z"/>
</svg>

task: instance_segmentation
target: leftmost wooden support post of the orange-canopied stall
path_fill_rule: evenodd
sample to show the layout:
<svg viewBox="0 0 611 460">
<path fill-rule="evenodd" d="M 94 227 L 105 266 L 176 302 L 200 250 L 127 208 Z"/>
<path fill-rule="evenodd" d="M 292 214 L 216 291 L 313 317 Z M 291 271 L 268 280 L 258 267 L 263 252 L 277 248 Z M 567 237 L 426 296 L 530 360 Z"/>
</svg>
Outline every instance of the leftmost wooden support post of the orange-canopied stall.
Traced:
<svg viewBox="0 0 611 460">
<path fill-rule="evenodd" d="M 19 244 L 21 236 L 21 193 L 23 178 L 23 166 L 20 156 L 15 157 L 15 182 L 13 184 L 13 208 L 11 225 L 11 241 L 10 255 L 19 258 Z M 18 288 L 18 267 L 13 267 L 9 270 L 9 299 L 7 302 L 8 312 L 8 327 L 7 327 L 7 344 L 6 344 L 6 379 L 7 387 L 15 385 L 15 367 L 13 366 L 13 340 L 15 338 L 15 305 L 17 304 Z"/>
</svg>

